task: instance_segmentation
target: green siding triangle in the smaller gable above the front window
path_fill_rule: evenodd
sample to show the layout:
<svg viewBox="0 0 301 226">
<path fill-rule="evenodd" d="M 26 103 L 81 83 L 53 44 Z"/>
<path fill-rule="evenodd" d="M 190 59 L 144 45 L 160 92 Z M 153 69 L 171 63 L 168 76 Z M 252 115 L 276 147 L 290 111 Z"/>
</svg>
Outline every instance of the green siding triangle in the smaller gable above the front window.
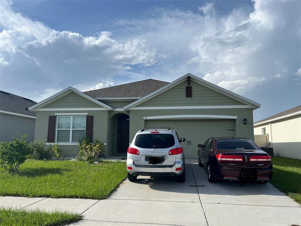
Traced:
<svg viewBox="0 0 301 226">
<path fill-rule="evenodd" d="M 43 106 L 42 108 L 103 108 L 92 101 L 71 92 Z"/>
</svg>

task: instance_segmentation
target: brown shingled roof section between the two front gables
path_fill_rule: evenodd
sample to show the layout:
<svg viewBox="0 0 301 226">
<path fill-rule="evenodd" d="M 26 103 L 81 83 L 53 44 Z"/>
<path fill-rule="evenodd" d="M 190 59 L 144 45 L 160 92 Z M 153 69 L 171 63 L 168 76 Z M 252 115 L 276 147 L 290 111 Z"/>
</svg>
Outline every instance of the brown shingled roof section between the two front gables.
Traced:
<svg viewBox="0 0 301 226">
<path fill-rule="evenodd" d="M 95 89 L 83 92 L 93 98 L 108 97 L 143 97 L 155 90 L 167 85 L 169 82 L 160 80 L 147 79 L 138 82 L 126 83 L 118 86 L 107 87 L 103 89 Z"/>
</svg>

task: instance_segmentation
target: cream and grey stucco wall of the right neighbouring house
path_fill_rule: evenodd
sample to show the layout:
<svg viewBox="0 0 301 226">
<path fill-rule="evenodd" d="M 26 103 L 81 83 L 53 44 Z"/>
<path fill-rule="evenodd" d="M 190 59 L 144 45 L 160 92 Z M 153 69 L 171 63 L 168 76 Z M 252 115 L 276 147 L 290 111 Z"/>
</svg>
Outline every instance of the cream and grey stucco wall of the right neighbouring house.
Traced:
<svg viewBox="0 0 301 226">
<path fill-rule="evenodd" d="M 254 126 L 254 134 L 262 134 L 264 127 L 275 156 L 301 159 L 301 115 L 271 122 L 272 132 L 269 124 Z"/>
</svg>

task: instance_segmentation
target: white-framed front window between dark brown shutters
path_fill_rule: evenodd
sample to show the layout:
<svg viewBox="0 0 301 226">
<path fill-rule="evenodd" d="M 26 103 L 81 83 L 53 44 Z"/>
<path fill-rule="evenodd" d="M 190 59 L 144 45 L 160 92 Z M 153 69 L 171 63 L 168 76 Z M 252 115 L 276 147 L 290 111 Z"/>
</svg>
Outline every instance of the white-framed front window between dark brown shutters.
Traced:
<svg viewBox="0 0 301 226">
<path fill-rule="evenodd" d="M 57 116 L 56 142 L 78 142 L 85 133 L 86 116 Z"/>
</svg>

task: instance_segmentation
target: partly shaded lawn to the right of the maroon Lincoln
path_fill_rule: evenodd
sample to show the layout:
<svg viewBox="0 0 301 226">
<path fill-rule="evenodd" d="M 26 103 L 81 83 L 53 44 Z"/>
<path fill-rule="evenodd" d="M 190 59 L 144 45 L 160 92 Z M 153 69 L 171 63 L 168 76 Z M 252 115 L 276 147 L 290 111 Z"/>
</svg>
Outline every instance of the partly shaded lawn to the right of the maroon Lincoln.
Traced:
<svg viewBox="0 0 301 226">
<path fill-rule="evenodd" d="M 301 204 L 301 160 L 272 157 L 271 183 Z"/>
</svg>

